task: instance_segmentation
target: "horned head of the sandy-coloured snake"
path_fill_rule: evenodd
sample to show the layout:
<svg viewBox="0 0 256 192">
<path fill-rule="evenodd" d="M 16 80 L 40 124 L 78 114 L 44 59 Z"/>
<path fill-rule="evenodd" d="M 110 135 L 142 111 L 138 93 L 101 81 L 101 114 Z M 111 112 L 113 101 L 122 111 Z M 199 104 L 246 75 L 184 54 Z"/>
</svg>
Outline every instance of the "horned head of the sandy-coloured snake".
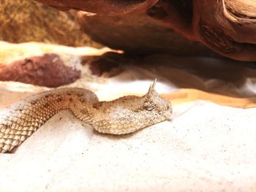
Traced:
<svg viewBox="0 0 256 192">
<path fill-rule="evenodd" d="M 152 126 L 172 115 L 170 101 L 163 99 L 151 83 L 144 96 L 124 96 L 100 103 L 94 112 L 94 128 L 107 134 L 129 134 L 141 128 Z"/>
</svg>

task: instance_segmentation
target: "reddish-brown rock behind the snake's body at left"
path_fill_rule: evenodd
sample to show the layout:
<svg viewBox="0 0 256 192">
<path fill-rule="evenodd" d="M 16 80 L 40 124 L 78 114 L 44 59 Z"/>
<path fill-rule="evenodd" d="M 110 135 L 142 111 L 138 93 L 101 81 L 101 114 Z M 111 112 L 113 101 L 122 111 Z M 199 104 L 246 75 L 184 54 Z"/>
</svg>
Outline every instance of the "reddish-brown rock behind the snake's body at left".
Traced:
<svg viewBox="0 0 256 192">
<path fill-rule="evenodd" d="M 65 66 L 56 54 L 34 56 L 0 66 L 1 81 L 25 82 L 50 88 L 75 82 L 79 77 L 80 71 Z"/>
</svg>

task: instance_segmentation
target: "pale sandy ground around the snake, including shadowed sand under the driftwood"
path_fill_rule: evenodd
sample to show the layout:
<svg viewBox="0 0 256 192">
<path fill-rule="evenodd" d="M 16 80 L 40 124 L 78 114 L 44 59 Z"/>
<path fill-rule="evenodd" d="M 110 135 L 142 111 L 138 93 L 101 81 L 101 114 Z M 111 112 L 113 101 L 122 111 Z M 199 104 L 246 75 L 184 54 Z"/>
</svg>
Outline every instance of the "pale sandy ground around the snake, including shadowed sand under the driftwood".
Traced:
<svg viewBox="0 0 256 192">
<path fill-rule="evenodd" d="M 159 93 L 197 88 L 246 97 L 255 95 L 255 74 L 236 61 L 157 55 L 86 85 L 101 100 L 146 93 L 155 77 Z M 0 105 L 42 90 L 2 82 Z M 255 108 L 193 101 L 173 110 L 173 120 L 121 137 L 60 112 L 15 153 L 0 155 L 0 191 L 256 190 Z"/>
</svg>

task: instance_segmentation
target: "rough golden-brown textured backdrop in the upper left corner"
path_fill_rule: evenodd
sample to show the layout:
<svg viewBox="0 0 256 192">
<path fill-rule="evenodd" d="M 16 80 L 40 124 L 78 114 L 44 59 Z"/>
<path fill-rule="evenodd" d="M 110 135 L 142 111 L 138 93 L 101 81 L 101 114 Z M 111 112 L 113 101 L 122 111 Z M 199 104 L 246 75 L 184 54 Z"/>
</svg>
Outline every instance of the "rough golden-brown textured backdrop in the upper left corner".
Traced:
<svg viewBox="0 0 256 192">
<path fill-rule="evenodd" d="M 0 40 L 101 47 L 80 31 L 75 18 L 74 10 L 59 12 L 32 0 L 0 1 Z"/>
</svg>

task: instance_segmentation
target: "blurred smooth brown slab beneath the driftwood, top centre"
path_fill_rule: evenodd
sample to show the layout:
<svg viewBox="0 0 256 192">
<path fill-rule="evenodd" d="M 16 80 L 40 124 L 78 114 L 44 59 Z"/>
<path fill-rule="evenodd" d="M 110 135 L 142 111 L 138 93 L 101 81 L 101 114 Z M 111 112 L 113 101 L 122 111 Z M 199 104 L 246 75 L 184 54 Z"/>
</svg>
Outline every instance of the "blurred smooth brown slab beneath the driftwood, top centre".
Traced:
<svg viewBox="0 0 256 192">
<path fill-rule="evenodd" d="M 107 16 L 79 12 L 78 22 L 94 41 L 129 54 L 217 55 L 144 13 Z"/>
</svg>

